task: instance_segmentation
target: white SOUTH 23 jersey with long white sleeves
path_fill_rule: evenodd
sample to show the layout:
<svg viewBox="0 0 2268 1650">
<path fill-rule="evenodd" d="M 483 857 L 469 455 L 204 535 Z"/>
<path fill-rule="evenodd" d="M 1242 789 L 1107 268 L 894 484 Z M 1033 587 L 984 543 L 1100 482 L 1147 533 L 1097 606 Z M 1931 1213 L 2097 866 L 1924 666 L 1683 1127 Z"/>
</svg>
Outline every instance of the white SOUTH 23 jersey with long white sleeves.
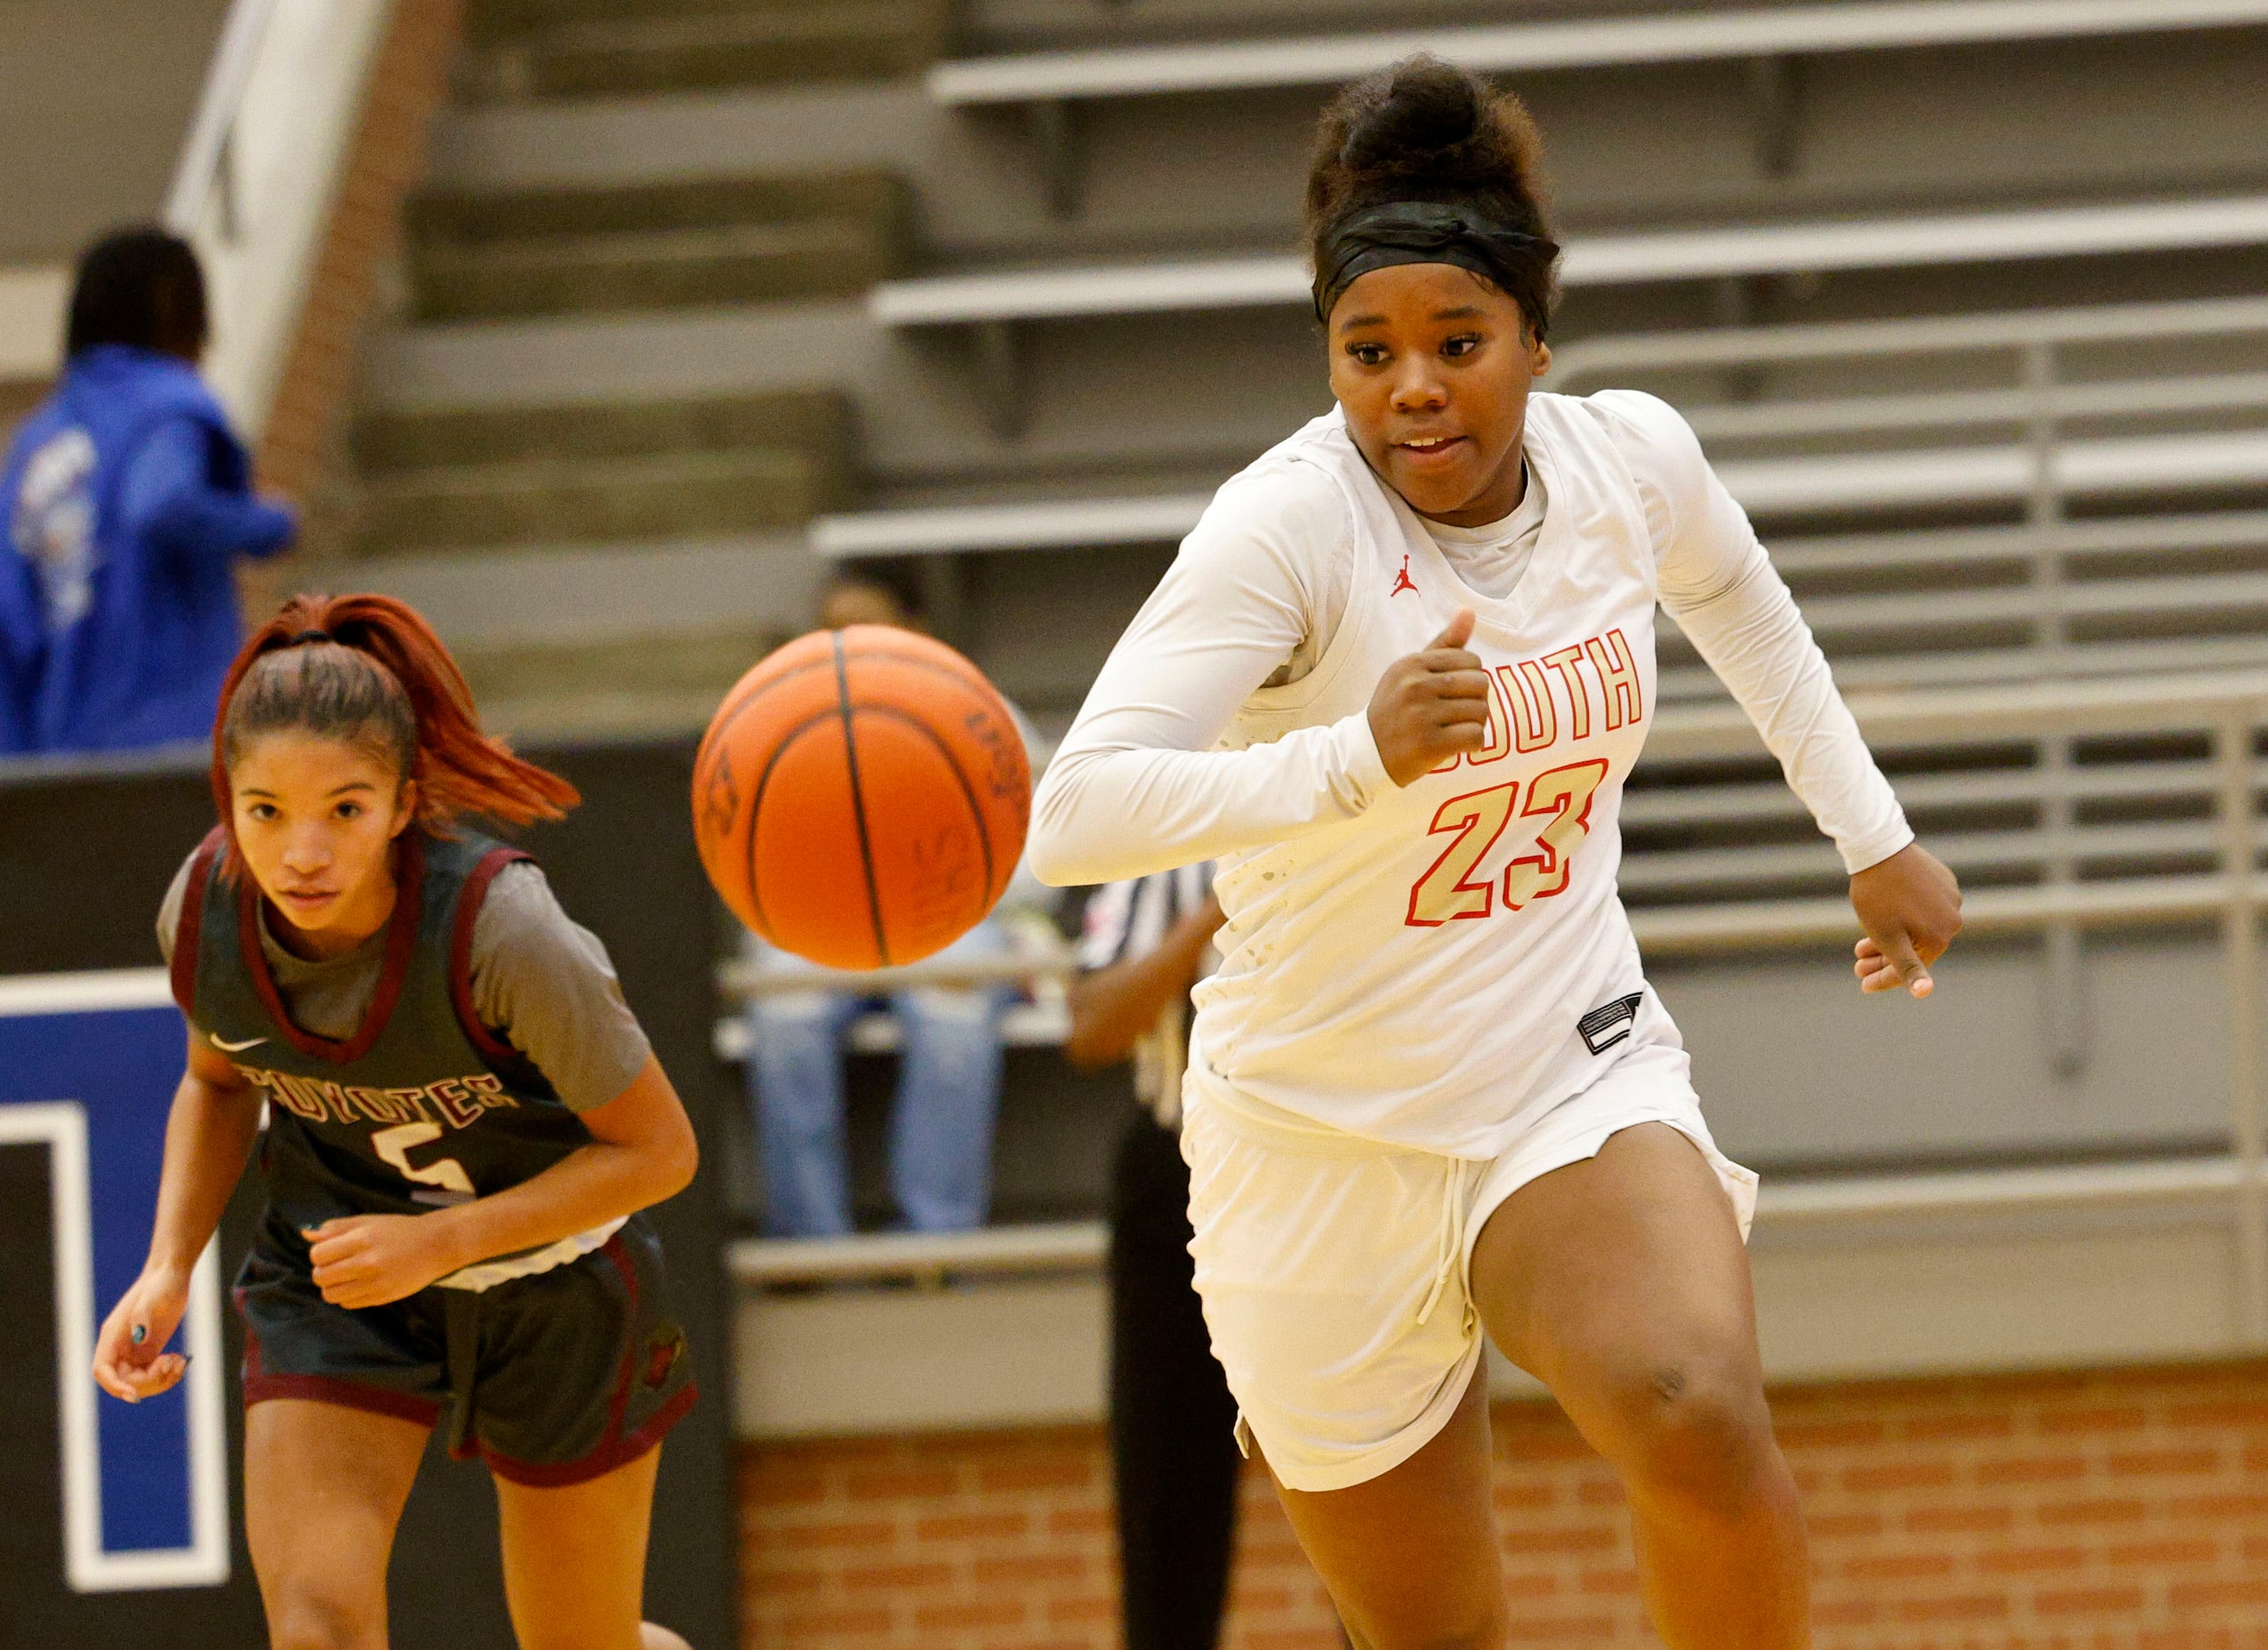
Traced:
<svg viewBox="0 0 2268 1650">
<path fill-rule="evenodd" d="M 1631 399 L 1692 443 L 1669 409 Z M 1622 790 L 1656 713 L 1660 508 L 1649 515 L 1628 452 L 1581 399 L 1531 397 L 1524 452 L 1545 515 L 1526 570 L 1497 599 L 1458 576 L 1338 413 L 1279 443 L 1216 508 L 1275 486 L 1270 497 L 1306 502 L 1311 538 L 1327 522 L 1352 524 L 1315 549 L 1329 576 L 1300 586 L 1327 586 L 1338 606 L 1313 667 L 1252 688 L 1268 672 L 1247 660 L 1259 674 L 1225 726 L 1191 726 L 1209 751 L 1114 738 L 1114 722 L 1154 724 L 1159 706 L 1184 722 L 1200 715 L 1202 692 L 1175 699 L 1177 672 L 1202 676 L 1200 654 L 1220 645 L 1207 649 L 1195 622 L 1170 615 L 1202 613 L 1204 595 L 1236 599 L 1236 586 L 1207 592 L 1204 570 L 1191 570 L 1198 586 L 1161 586 L 1157 613 L 1145 608 L 1120 642 L 1041 788 L 1032 853 L 1050 881 L 1102 865 L 1139 874 L 1154 865 L 1136 860 L 1193 851 L 1220 858 L 1225 962 L 1195 992 L 1191 1083 L 1222 1103 L 1495 1157 L 1524 1119 L 1583 1087 L 1617 1010 L 1624 1028 L 1635 1010 L 1644 980 L 1615 876 Z M 1706 474 L 1696 447 L 1692 463 Z M 1662 490 L 1651 499 L 1660 506 Z M 1726 624 L 1744 640 L 1769 633 L 1771 658 L 1728 667 L 1733 649 L 1712 651 L 1708 622 L 1696 631 L 1687 620 L 1687 631 L 1744 704 L 1796 708 L 1801 726 L 1767 724 L 1767 740 L 1846 860 L 1873 862 L 1912 833 L 1746 517 L 1724 506 L 1744 536 L 1726 547 L 1728 565 L 1753 552 L 1753 565 L 1726 576 L 1724 590 L 1740 590 Z M 1710 531 L 1730 536 L 1724 522 Z M 1204 533 L 1200 524 L 1191 542 Z M 1388 665 L 1461 608 L 1476 615 L 1467 647 L 1490 681 L 1486 744 L 1397 788 L 1370 738 L 1370 697 Z M 1082 853 L 1082 837 L 1100 847 Z"/>
</svg>

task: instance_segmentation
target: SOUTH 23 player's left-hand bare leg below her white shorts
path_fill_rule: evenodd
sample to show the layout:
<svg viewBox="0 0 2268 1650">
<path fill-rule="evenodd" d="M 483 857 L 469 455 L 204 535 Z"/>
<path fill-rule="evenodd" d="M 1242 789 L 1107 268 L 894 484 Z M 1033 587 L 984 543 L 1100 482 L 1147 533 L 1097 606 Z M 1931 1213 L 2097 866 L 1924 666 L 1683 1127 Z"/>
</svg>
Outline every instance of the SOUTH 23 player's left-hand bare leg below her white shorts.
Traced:
<svg viewBox="0 0 2268 1650">
<path fill-rule="evenodd" d="M 1277 1498 L 1361 1650 L 1504 1643 L 1486 1366 L 1449 1423 L 1399 1466 L 1349 1489 L 1277 1484 Z"/>
</svg>

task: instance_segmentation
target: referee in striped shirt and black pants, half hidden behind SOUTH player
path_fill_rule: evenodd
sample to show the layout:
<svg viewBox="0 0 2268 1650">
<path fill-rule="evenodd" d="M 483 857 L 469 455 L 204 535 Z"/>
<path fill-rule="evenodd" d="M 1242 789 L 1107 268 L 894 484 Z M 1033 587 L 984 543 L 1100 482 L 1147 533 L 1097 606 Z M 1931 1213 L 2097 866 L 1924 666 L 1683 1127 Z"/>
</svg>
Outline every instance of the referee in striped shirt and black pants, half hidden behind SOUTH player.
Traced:
<svg viewBox="0 0 2268 1650">
<path fill-rule="evenodd" d="M 1098 887 L 1070 990 L 1077 1067 L 1134 1058 L 1111 1173 L 1111 1471 L 1127 1650 L 1211 1650 L 1236 1537 L 1236 1400 L 1213 1362 L 1188 1257 L 1182 1067 L 1188 987 L 1211 969 L 1211 867 Z"/>
</svg>

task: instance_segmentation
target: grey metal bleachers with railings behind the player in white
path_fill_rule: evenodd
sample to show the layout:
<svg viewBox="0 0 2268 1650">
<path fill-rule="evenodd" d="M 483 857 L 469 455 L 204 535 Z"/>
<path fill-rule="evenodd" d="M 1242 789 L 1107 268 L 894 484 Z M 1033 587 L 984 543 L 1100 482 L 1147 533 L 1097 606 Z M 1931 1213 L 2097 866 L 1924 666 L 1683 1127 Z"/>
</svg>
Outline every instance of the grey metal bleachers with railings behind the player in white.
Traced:
<svg viewBox="0 0 2268 1650">
<path fill-rule="evenodd" d="M 1288 252 L 1327 89 L 1411 50 L 1504 75 L 1565 184 L 1545 388 L 1692 420 L 1969 896 L 1932 1003 L 1857 999 L 1833 847 L 1662 624 L 1619 885 L 1712 1128 L 1767 1171 L 1771 1371 L 2268 1346 L 2268 157 L 2200 136 L 2268 0 L 1529 11 L 978 0 L 891 116 L 925 241 L 830 315 L 871 377 L 812 561 L 950 590 L 955 640 L 1061 726 L 1211 486 L 1327 406 Z M 2150 141 L 2080 154 L 2096 123 Z M 1059 1037 L 1064 958 L 1018 967 L 1009 1039 Z M 2105 1278 L 2175 1230 L 2211 1264 Z M 1100 1364 L 1048 1371 L 1093 1332 L 1048 1312 L 1100 1253 L 1084 1221 L 742 1244 L 748 1425 L 1086 1414 Z M 2019 1344 L 2019 1271 L 2068 1278 L 2064 1350 Z M 885 1278 L 948 1287 L 805 1287 Z M 2132 1328 L 2161 1300 L 2211 1332 Z M 887 1314 L 946 1362 L 962 1335 L 964 1389 L 860 1396 Z"/>
</svg>

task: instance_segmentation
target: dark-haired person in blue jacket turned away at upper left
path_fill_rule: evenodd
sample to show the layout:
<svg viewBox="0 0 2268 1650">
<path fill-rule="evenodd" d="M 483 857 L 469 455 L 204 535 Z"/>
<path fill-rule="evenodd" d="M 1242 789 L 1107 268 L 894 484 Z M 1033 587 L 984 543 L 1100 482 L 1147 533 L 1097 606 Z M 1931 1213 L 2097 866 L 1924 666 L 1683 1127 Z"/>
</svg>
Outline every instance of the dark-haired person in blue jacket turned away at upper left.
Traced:
<svg viewBox="0 0 2268 1650">
<path fill-rule="evenodd" d="M 197 377 L 204 275 L 186 241 L 120 229 L 70 295 L 61 384 L 0 472 L 0 751 L 111 751 L 213 731 L 243 642 L 236 561 L 293 540 Z"/>
</svg>

